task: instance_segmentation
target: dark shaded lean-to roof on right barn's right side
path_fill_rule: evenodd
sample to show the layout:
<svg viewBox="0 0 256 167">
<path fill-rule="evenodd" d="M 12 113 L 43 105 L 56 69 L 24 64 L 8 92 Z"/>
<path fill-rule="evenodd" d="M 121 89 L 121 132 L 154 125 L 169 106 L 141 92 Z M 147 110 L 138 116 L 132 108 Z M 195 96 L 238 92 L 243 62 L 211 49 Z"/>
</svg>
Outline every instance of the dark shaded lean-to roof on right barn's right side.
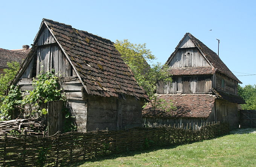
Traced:
<svg viewBox="0 0 256 167">
<path fill-rule="evenodd" d="M 246 104 L 245 100 L 239 95 L 230 94 L 213 88 L 212 91 L 219 99 L 226 100 L 231 103 Z"/>
</svg>

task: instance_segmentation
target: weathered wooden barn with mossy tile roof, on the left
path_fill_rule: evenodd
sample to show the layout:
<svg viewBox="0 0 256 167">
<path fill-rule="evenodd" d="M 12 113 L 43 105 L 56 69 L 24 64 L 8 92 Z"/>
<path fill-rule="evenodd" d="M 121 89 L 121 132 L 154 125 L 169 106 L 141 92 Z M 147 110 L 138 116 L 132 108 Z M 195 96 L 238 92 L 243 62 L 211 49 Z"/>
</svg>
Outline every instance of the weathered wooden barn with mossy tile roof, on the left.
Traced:
<svg viewBox="0 0 256 167">
<path fill-rule="evenodd" d="M 21 91 L 32 90 L 32 78 L 52 69 L 66 92 L 78 131 L 142 126 L 148 96 L 110 40 L 43 19 L 13 84 Z"/>
</svg>

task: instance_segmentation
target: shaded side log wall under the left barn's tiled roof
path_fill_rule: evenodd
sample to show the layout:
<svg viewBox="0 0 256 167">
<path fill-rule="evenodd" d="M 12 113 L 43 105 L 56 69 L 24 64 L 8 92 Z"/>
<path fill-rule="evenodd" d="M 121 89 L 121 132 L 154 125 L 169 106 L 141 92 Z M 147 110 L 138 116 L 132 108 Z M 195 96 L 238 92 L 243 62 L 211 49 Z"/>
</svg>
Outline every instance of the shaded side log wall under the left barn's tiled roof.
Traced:
<svg viewBox="0 0 256 167">
<path fill-rule="evenodd" d="M 96 97 L 87 95 L 88 101 L 87 129 L 88 131 L 108 128 L 119 130 L 142 125 L 142 101 L 136 101 L 133 96 L 126 100 L 114 97 Z"/>
</svg>

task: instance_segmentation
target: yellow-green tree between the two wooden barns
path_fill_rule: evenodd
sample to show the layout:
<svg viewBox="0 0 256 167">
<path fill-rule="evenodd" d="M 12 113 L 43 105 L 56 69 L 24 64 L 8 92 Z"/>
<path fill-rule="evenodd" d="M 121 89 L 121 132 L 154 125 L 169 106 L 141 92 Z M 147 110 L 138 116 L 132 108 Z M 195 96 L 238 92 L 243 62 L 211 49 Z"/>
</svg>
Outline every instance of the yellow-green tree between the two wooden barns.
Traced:
<svg viewBox="0 0 256 167">
<path fill-rule="evenodd" d="M 124 39 L 121 41 L 116 40 L 114 46 L 134 73 L 138 84 L 145 89 L 149 98 L 153 100 L 152 106 L 166 111 L 169 111 L 169 107 L 168 109 L 166 108 L 168 104 L 171 108 L 175 108 L 171 101 L 167 102 L 163 99 L 157 99 L 155 96 L 157 81 L 172 82 L 172 78 L 168 73 L 168 67 L 166 65 L 156 63 L 150 66 L 147 63 L 147 60 L 152 62 L 156 60 L 156 58 L 152 55 L 152 52 L 146 48 L 146 43 L 133 44 L 130 43 L 128 39 Z"/>
</svg>

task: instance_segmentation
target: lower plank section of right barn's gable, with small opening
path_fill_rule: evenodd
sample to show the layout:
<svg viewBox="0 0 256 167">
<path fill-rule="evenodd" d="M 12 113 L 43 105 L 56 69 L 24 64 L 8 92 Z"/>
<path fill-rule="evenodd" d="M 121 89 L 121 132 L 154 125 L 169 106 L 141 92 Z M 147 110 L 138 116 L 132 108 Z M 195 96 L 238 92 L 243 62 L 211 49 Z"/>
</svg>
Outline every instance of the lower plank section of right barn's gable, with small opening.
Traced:
<svg viewBox="0 0 256 167">
<path fill-rule="evenodd" d="M 210 66 L 207 60 L 200 53 L 198 48 L 182 48 L 178 49 L 172 57 L 169 67 L 198 67 Z"/>
</svg>

